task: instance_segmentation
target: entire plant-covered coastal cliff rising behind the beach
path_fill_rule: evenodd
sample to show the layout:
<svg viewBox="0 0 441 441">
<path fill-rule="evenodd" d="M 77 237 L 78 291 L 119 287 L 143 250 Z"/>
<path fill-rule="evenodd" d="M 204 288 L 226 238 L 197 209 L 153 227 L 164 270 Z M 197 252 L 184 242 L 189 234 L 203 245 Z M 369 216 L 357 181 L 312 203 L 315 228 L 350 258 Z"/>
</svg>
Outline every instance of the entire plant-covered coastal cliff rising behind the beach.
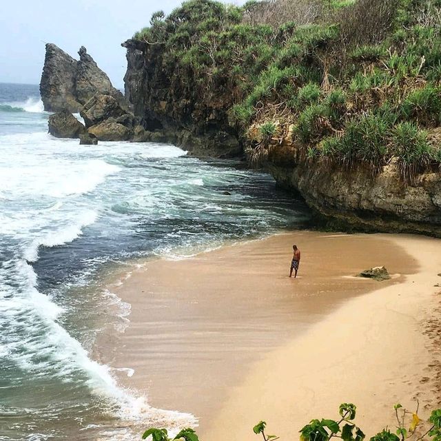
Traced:
<svg viewBox="0 0 441 441">
<path fill-rule="evenodd" d="M 190 0 L 123 43 L 145 130 L 244 156 L 327 227 L 441 236 L 441 2 Z"/>
</svg>

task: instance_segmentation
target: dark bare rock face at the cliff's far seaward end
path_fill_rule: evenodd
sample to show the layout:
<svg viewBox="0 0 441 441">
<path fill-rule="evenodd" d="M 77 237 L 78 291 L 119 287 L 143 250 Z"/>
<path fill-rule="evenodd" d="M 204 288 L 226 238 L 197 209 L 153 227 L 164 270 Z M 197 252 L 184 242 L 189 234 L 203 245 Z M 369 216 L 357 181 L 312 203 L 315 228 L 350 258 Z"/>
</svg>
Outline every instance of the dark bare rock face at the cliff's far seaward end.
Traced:
<svg viewBox="0 0 441 441">
<path fill-rule="evenodd" d="M 232 94 L 226 85 L 202 94 L 197 78 L 188 81 L 164 68 L 160 45 L 133 39 L 122 45 L 127 48 L 125 94 L 145 130 L 161 132 L 163 139 L 197 156 L 243 154 L 238 134 L 228 123 Z"/>
</svg>

